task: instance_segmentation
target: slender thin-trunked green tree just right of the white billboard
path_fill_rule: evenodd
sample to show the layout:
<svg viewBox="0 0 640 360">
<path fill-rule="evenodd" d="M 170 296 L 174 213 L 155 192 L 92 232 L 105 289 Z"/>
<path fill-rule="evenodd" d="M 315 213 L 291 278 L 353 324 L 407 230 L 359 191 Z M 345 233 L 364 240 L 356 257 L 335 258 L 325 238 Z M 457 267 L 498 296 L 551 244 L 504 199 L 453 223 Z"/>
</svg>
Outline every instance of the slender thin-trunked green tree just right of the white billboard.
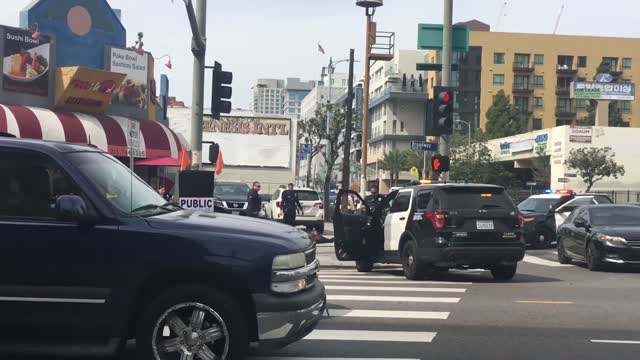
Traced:
<svg viewBox="0 0 640 360">
<path fill-rule="evenodd" d="M 325 194 L 329 194 L 331 190 L 333 165 L 340 157 L 340 149 L 344 145 L 345 139 L 342 135 L 347 127 L 346 118 L 346 111 L 342 106 L 321 104 L 316 109 L 315 116 L 304 122 L 305 131 L 318 141 L 318 152 L 322 153 L 327 168 L 323 184 Z M 331 120 L 329 132 L 327 132 L 327 119 Z M 325 219 L 328 219 L 329 196 L 324 197 L 324 210 Z"/>
</svg>

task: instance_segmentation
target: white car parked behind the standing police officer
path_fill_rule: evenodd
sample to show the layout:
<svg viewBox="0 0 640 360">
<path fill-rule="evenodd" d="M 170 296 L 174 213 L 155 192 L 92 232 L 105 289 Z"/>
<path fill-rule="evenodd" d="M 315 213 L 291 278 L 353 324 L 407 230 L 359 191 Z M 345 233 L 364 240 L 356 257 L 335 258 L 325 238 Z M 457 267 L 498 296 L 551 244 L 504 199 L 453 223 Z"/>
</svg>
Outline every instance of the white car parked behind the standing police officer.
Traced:
<svg viewBox="0 0 640 360">
<path fill-rule="evenodd" d="M 267 219 L 282 221 L 284 214 L 280 209 L 282 193 L 286 189 L 278 189 L 273 194 L 271 201 L 266 205 Z M 324 232 L 324 203 L 320 200 L 320 195 L 313 189 L 294 188 L 298 193 L 298 200 L 302 204 L 304 214 L 296 215 L 296 226 L 305 226 L 307 229 L 315 228 L 318 232 Z"/>
</svg>

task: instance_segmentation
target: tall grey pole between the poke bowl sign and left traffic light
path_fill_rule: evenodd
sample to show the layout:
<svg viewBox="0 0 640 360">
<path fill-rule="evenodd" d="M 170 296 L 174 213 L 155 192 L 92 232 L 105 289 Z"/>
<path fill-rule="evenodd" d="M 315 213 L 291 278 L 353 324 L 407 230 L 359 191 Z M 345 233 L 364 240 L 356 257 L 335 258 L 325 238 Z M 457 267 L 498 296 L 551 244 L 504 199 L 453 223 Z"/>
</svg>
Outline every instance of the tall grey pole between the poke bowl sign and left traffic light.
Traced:
<svg viewBox="0 0 640 360">
<path fill-rule="evenodd" d="M 204 68 L 207 52 L 207 0 L 184 0 L 189 16 L 193 40 L 193 80 L 191 104 L 191 164 L 195 170 L 202 166 L 202 116 L 204 113 Z"/>
</svg>

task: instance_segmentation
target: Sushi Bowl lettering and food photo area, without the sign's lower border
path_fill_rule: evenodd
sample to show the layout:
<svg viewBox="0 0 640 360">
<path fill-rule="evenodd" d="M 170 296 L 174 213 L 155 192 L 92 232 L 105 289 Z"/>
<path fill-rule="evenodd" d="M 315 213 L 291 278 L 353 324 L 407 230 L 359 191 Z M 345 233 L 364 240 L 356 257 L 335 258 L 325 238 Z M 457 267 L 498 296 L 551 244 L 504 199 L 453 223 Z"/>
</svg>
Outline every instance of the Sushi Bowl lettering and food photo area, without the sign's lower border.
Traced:
<svg viewBox="0 0 640 360">
<path fill-rule="evenodd" d="M 4 28 L 2 89 L 7 92 L 49 96 L 51 37 L 22 29 Z"/>
</svg>

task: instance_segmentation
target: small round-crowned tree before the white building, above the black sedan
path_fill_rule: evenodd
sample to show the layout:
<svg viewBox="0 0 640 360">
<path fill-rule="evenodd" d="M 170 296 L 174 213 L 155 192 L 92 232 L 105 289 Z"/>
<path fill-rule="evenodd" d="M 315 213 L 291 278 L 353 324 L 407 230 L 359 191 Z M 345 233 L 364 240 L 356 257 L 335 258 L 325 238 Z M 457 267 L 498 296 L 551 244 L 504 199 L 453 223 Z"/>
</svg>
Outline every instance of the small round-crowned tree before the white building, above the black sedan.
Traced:
<svg viewBox="0 0 640 360">
<path fill-rule="evenodd" d="M 610 147 L 573 149 L 569 153 L 565 165 L 578 172 L 578 175 L 587 184 L 586 192 L 589 192 L 595 183 L 604 178 L 618 179 L 618 177 L 624 176 L 626 170 L 623 165 L 616 163 L 615 156 L 616 154 L 611 151 Z"/>
</svg>

